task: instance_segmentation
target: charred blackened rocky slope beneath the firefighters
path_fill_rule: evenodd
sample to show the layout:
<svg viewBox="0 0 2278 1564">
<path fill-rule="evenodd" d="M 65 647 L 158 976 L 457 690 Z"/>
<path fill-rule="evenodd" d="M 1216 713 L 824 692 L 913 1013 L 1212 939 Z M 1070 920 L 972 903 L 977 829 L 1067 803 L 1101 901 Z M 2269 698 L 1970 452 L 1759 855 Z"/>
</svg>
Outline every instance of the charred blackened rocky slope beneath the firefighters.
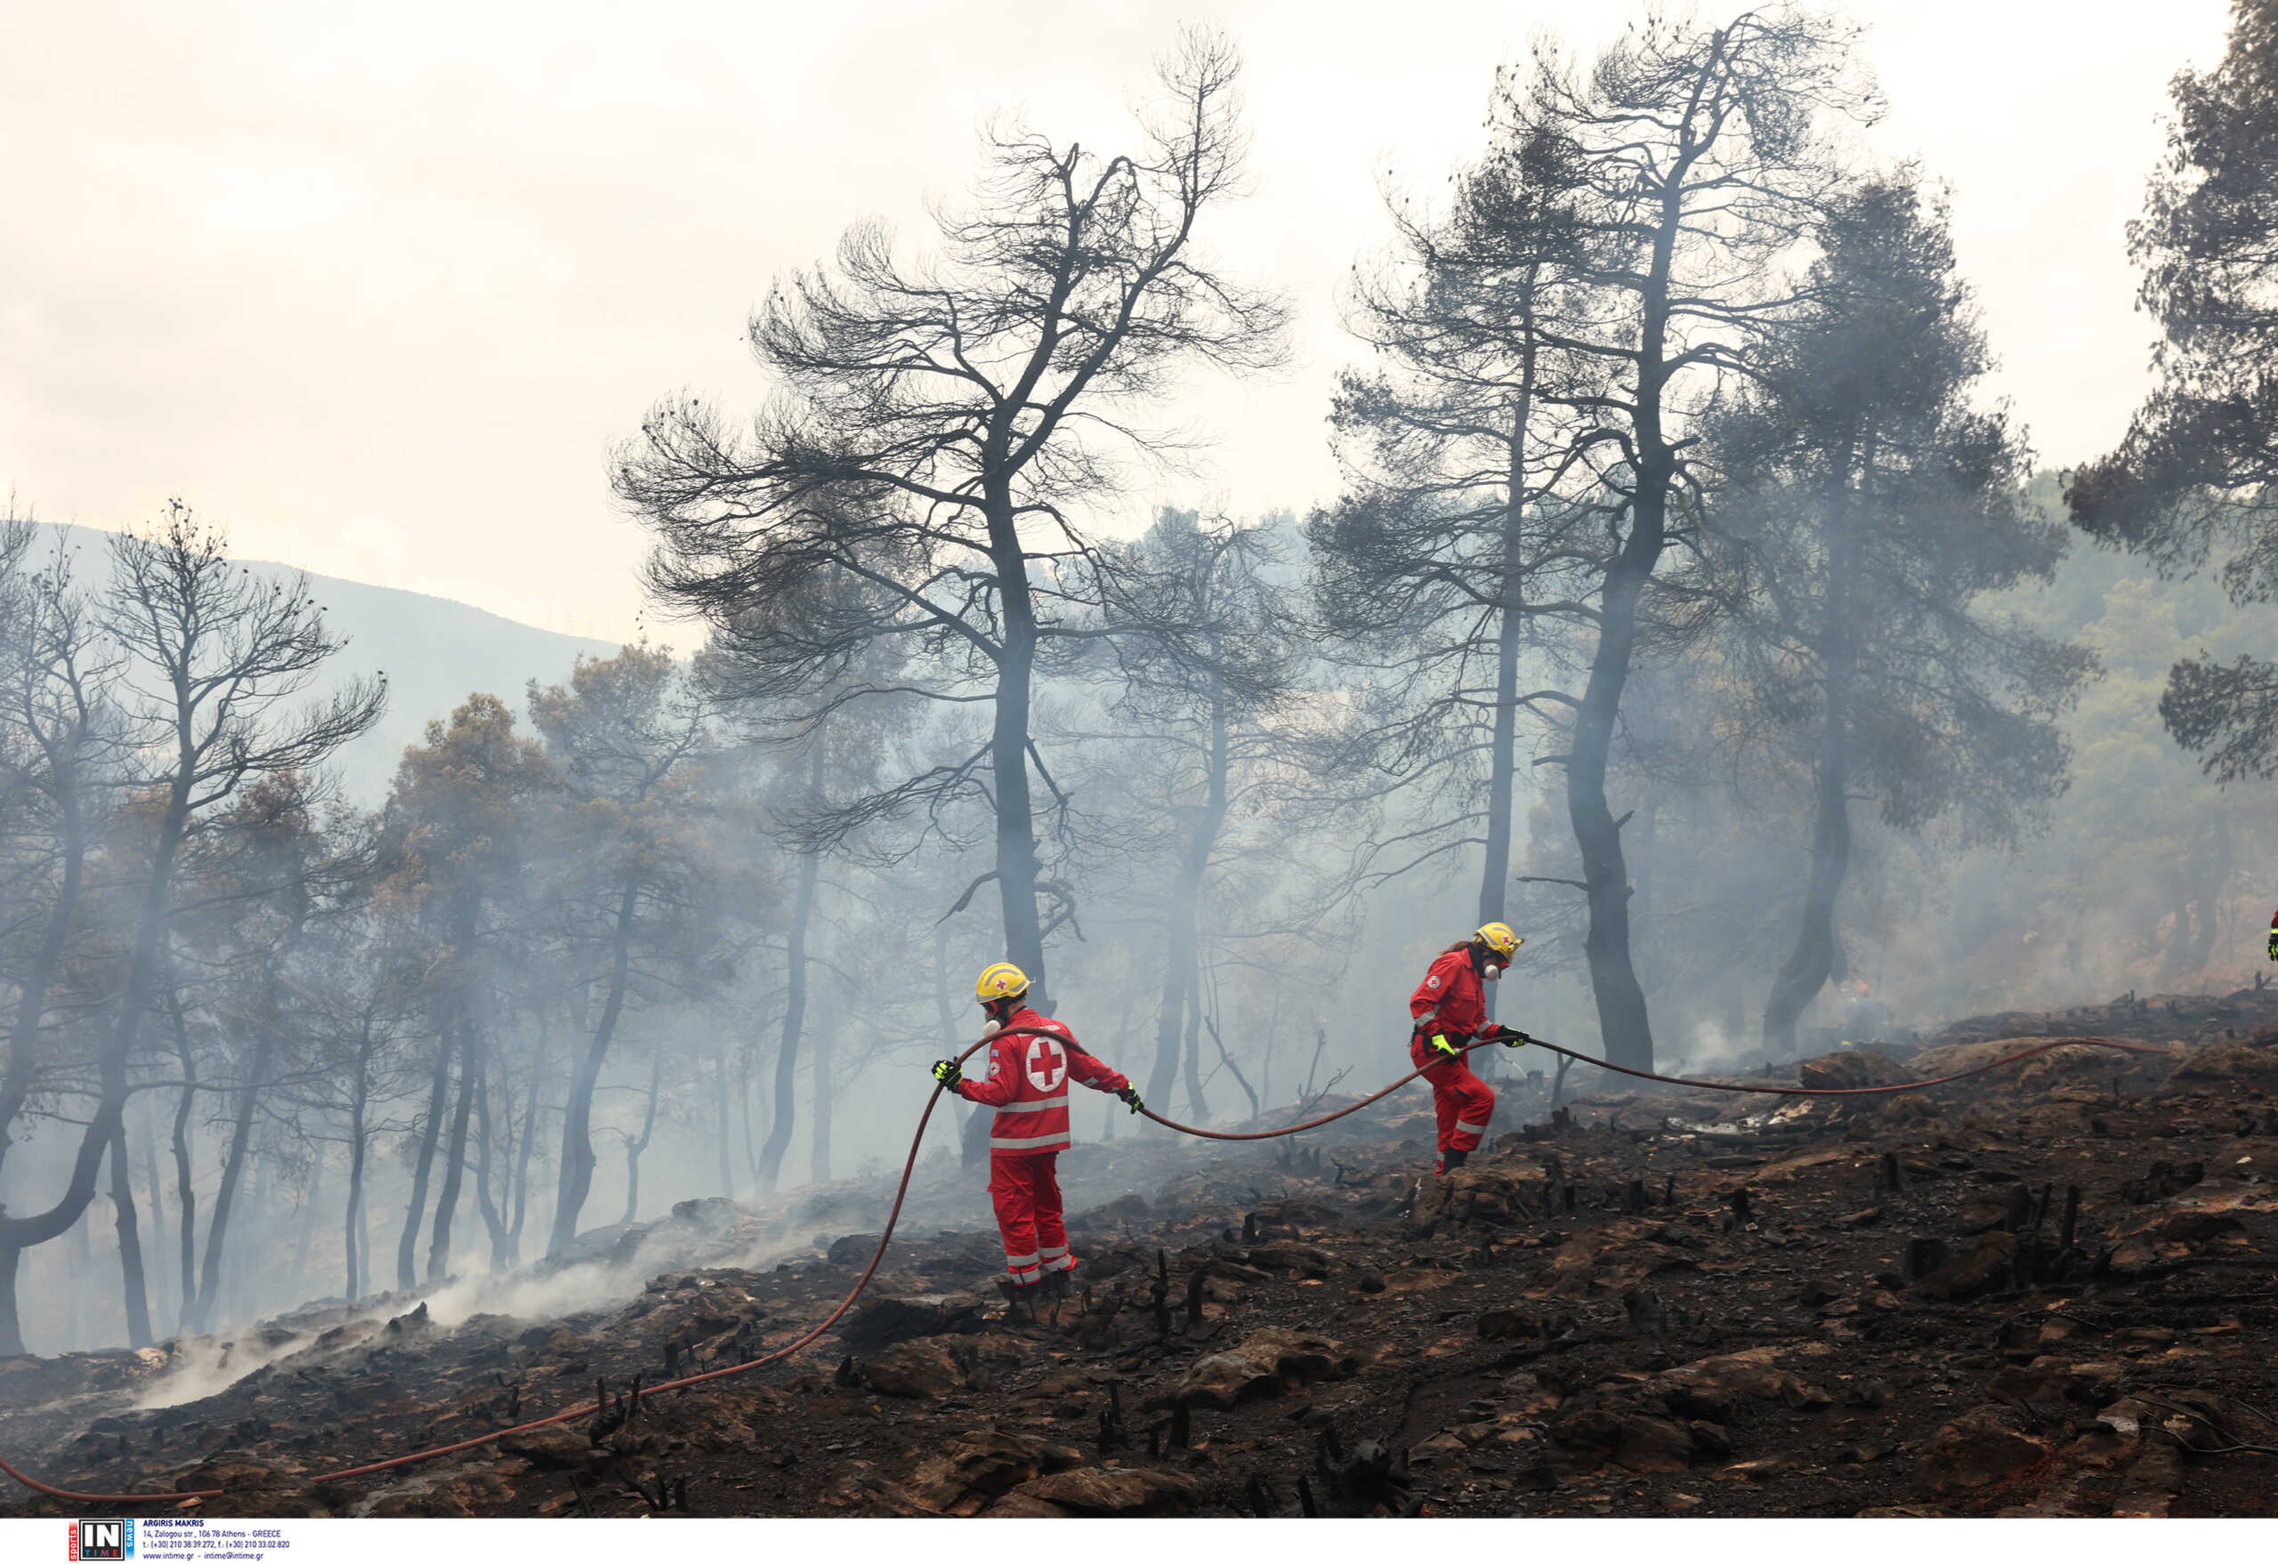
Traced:
<svg viewBox="0 0 2278 1564">
<path fill-rule="evenodd" d="M 267 1366 L 146 1409 L 182 1343 L 5 1359 L 0 1452 L 269 1516 L 2269 1516 L 2273 1022 L 2278 988 L 2130 997 L 1791 1072 L 1909 1079 L 2050 1036 L 2169 1054 L 2066 1047 L 1857 1104 L 1538 1100 L 1447 1179 L 1421 1090 L 1303 1143 L 1123 1138 L 1071 1186 L 1150 1188 L 1071 1218 L 1080 1279 L 1034 1318 L 995 1291 L 986 1200 L 945 1188 L 923 1209 L 968 1225 L 904 1225 L 836 1336 L 636 1400 L 795 1339 L 875 1243 L 704 1263 L 781 1229 L 688 1202 L 649 1238 L 693 1263 L 642 1282 L 658 1250 L 620 1234 L 583 1263 L 631 1302 L 565 1318 L 308 1309 L 232 1343 Z M 597 1386 L 599 1418 L 308 1480 Z M 23 1498 L 5 1514 L 66 1509 Z"/>
</svg>

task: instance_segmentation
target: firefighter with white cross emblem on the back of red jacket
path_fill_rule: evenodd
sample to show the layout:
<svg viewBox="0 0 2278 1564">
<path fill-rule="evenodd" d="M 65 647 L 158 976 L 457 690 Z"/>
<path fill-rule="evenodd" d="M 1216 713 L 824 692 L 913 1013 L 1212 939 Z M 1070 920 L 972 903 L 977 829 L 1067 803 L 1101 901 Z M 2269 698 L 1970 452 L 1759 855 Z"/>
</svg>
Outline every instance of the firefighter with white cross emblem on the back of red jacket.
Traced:
<svg viewBox="0 0 2278 1564">
<path fill-rule="evenodd" d="M 1036 1286 L 1075 1270 L 1068 1227 L 1059 1216 L 1055 1163 L 1068 1147 L 1068 1081 L 1107 1090 L 1139 1111 L 1132 1084 L 1087 1054 L 1064 1022 L 1027 1009 L 1027 974 L 1009 961 L 982 972 L 975 983 L 989 1027 L 989 1072 L 966 1079 L 954 1059 L 934 1063 L 934 1079 L 966 1102 L 995 1109 L 989 1125 L 989 1197 L 1005 1236 L 1005 1270 L 1011 1286 Z M 1039 1027 L 1048 1036 L 1002 1036 L 1007 1027 Z"/>
</svg>

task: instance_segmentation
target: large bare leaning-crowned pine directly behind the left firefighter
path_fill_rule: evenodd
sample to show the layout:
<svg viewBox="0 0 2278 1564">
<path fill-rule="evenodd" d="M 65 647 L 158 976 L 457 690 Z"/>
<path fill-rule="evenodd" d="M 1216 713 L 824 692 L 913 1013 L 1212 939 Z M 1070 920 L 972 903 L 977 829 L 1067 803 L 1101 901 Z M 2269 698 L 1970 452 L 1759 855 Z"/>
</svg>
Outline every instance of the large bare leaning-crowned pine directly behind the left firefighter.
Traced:
<svg viewBox="0 0 2278 1564">
<path fill-rule="evenodd" d="M 656 533 L 661 603 L 734 626 L 779 692 L 866 699 L 841 674 L 893 640 L 927 658 L 895 692 L 984 706 L 970 749 L 850 804 L 847 829 L 925 806 L 989 810 L 1005 952 L 1043 1002 L 1046 920 L 1030 733 L 1039 667 L 1107 631 L 1100 553 L 1075 508 L 1121 458 L 1162 448 L 1134 419 L 1187 364 L 1251 369 L 1280 307 L 1196 248 L 1242 162 L 1237 59 L 1187 34 L 1137 153 L 998 130 L 977 205 L 941 214 L 941 253 L 847 230 L 836 262 L 781 282 L 749 337 L 777 398 L 747 430 L 697 398 L 661 405 L 615 460 Z M 859 612 L 781 612 L 816 576 L 875 590 Z M 877 690 L 884 694 L 884 690 Z M 1057 790 L 1055 790 L 1057 792 Z"/>
</svg>

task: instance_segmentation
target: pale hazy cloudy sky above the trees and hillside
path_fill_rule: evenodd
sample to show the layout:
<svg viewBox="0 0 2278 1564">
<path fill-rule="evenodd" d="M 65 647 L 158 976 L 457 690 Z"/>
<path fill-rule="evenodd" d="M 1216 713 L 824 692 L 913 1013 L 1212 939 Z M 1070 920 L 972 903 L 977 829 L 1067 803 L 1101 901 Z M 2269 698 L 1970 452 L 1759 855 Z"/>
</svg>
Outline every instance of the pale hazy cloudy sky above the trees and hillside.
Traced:
<svg viewBox="0 0 2278 1564">
<path fill-rule="evenodd" d="M 1852 14 L 1891 100 L 1868 143 L 1950 182 L 2000 394 L 2043 460 L 2103 451 L 2146 382 L 2123 223 L 2169 75 L 2221 52 L 2221 0 Z M 91 526 L 180 494 L 248 555 L 631 635 L 642 535 L 611 442 L 677 387 L 754 405 L 768 280 L 852 219 L 923 239 L 984 114 L 1128 143 L 1180 16 L 1248 61 L 1255 194 L 1205 241 L 1287 289 L 1298 335 L 1276 378 L 1194 387 L 1216 446 L 1144 499 L 1310 505 L 1335 487 L 1337 285 L 1383 246 L 1383 180 L 1435 191 L 1499 61 L 1542 30 L 1595 46 L 1636 7 L 23 5 L 0 485 Z"/>
</svg>

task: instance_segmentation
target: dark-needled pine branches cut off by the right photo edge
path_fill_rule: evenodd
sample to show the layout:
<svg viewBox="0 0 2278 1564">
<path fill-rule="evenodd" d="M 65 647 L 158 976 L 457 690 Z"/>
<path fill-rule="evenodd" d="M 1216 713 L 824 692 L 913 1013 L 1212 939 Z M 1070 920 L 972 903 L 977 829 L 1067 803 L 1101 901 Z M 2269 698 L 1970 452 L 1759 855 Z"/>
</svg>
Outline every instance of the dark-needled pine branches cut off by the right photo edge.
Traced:
<svg viewBox="0 0 2278 1564">
<path fill-rule="evenodd" d="M 2157 387 L 2073 474 L 2073 521 L 2162 574 L 2221 551 L 2237 603 L 2278 601 L 2278 0 L 2232 0 L 2223 61 L 2173 82 L 2166 162 L 2128 250 L 2160 321 Z M 2278 776 L 2278 665 L 2198 653 L 2160 717 L 2219 781 Z"/>
</svg>

